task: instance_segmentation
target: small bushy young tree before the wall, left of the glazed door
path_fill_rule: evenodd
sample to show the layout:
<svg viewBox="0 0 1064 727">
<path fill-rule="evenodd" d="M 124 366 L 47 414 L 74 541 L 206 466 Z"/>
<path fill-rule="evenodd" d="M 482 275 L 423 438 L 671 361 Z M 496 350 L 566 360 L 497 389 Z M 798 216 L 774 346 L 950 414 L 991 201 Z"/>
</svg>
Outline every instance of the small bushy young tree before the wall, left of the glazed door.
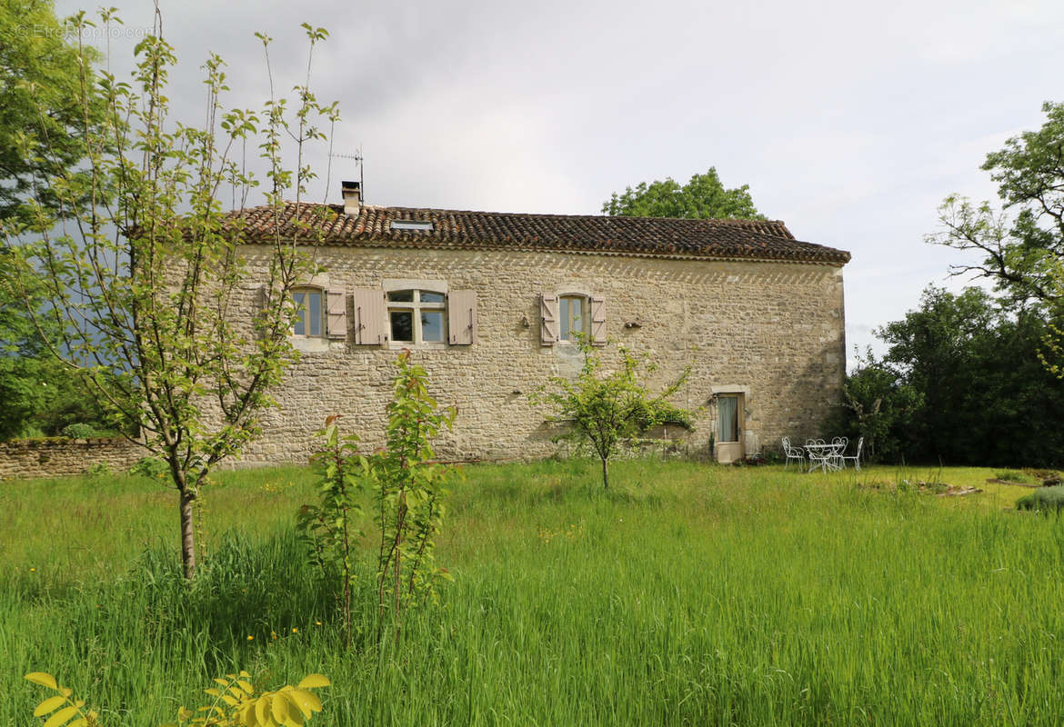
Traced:
<svg viewBox="0 0 1064 727">
<path fill-rule="evenodd" d="M 603 371 L 598 351 L 580 342 L 584 365 L 576 378 L 551 376 L 534 395 L 535 403 L 550 409 L 548 421 L 567 425 L 561 439 L 588 444 L 602 462 L 602 488 L 610 489 L 610 458 L 622 441 L 658 424 L 692 426 L 689 411 L 674 406 L 668 398 L 687 381 L 689 368 L 656 395 L 641 378 L 656 367 L 619 349 L 620 366 Z"/>
</svg>

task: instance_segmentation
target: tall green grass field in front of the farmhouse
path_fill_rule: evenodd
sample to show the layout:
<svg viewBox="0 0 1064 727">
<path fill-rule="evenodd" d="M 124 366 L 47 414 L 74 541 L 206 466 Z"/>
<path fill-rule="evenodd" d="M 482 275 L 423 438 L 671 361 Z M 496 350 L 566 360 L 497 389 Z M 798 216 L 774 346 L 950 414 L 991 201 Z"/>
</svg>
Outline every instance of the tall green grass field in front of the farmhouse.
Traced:
<svg viewBox="0 0 1064 727">
<path fill-rule="evenodd" d="M 437 553 L 455 582 L 399 647 L 347 653 L 292 535 L 307 470 L 219 475 L 190 589 L 170 491 L 0 484 L 0 724 L 34 723 L 30 671 L 145 727 L 236 669 L 329 675 L 312 725 L 1064 722 L 1064 526 L 991 470 L 635 460 L 609 494 L 579 460 L 464 473 Z"/>
</svg>

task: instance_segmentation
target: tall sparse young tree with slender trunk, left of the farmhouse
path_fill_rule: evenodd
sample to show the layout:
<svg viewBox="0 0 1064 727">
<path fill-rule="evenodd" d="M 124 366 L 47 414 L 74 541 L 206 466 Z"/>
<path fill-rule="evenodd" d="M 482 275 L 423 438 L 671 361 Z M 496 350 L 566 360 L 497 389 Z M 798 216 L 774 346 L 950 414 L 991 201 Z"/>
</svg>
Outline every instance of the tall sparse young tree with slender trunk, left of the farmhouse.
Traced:
<svg viewBox="0 0 1064 727">
<path fill-rule="evenodd" d="M 79 34 L 86 22 L 77 17 Z M 166 85 L 176 61 L 161 28 L 156 12 L 154 32 L 136 46 L 132 83 L 99 73 L 106 114 L 99 125 L 82 126 L 84 173 L 60 165 L 32 172 L 30 214 L 4 221 L 2 233 L 16 258 L 14 287 L 52 355 L 80 372 L 110 411 L 138 422 L 144 444 L 166 461 L 178 492 L 184 574 L 192 578 L 194 502 L 212 468 L 240 452 L 273 404 L 269 391 L 293 355 L 289 290 L 309 267 L 297 239 L 313 240 L 315 229 L 288 225 L 287 237 L 276 232 L 268 275 L 257 291 L 247 290 L 240 230 L 222 212 L 222 192 L 231 186 L 246 199 L 256 184 L 234 157 L 260 134 L 268 202 L 278 216 L 284 195 L 298 204 L 314 177 L 304 145 L 322 137 L 316 119 L 335 120 L 336 112 L 311 92 L 310 62 L 290 112 L 272 98 L 262 117 L 226 111 L 223 63 L 212 56 L 204 66 L 205 124 L 173 123 Z M 304 28 L 313 52 L 327 33 Z M 87 118 L 93 90 L 84 55 L 80 69 Z M 282 137 L 289 135 L 298 158 L 292 171 L 281 162 Z M 59 158 L 48 145 L 43 153 Z M 31 281 L 38 277 L 51 326 L 31 304 Z M 254 320 L 234 320 L 251 298 L 259 303 Z"/>
</svg>

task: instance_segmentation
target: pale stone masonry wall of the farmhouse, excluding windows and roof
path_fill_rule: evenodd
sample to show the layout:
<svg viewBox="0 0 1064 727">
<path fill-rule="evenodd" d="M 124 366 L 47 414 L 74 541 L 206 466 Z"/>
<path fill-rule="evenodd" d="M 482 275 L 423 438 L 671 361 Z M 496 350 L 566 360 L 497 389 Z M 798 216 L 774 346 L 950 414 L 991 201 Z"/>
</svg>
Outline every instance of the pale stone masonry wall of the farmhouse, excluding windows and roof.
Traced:
<svg viewBox="0 0 1064 727">
<path fill-rule="evenodd" d="M 244 286 L 250 320 L 267 251 L 249 246 L 245 255 L 251 269 Z M 318 350 L 304 351 L 289 369 L 276 392 L 281 406 L 266 415 L 263 436 L 246 450 L 246 464 L 305 462 L 317 445 L 314 433 L 334 413 L 343 415 L 344 428 L 362 437 L 367 449 L 382 442 L 393 361 L 403 345 L 355 345 L 350 293 L 392 278 L 443 281 L 450 290 L 477 291 L 479 335 L 472 345 L 413 349 L 439 403 L 458 407 L 453 433 L 437 445 L 440 457 L 521 459 L 554 451 L 544 411 L 528 395 L 550 375 L 575 373 L 580 360 L 571 344 L 541 344 L 542 292 L 604 298 L 613 341 L 601 350 L 608 364 L 616 361 L 619 343 L 650 354 L 660 367 L 658 383 L 693 365 L 675 401 L 700 408 L 689 439 L 696 450 L 708 445 L 714 426 L 714 391 L 744 392 L 748 452 L 778 447 L 784 435 L 801 439 L 819 433 L 839 400 L 845 366 L 839 267 L 338 247 L 319 249 L 317 259 L 325 272 L 314 283 L 348 293 L 347 340 L 304 345 Z M 637 327 L 626 327 L 633 323 Z"/>
</svg>

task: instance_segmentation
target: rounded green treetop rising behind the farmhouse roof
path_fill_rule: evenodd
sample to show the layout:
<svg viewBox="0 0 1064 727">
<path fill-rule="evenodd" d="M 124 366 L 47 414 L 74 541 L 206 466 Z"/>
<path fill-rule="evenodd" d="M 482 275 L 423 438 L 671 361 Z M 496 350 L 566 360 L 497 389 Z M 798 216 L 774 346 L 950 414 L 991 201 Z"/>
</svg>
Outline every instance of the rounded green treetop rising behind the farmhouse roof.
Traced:
<svg viewBox="0 0 1064 727">
<path fill-rule="evenodd" d="M 715 167 L 704 174 L 695 174 L 685 185 L 671 176 L 664 182 L 639 182 L 624 193 L 614 192 L 602 205 L 605 215 L 625 217 L 680 217 L 686 219 L 763 220 L 750 199 L 750 187 L 744 184 L 725 189 Z"/>
</svg>

